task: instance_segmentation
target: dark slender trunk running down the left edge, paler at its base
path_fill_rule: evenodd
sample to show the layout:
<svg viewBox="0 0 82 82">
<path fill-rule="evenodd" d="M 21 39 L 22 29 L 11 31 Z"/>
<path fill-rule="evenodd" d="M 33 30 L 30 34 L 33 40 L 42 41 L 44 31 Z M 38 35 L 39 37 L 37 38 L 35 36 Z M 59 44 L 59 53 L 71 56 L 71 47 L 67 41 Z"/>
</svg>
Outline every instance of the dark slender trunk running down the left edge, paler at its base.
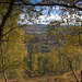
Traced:
<svg viewBox="0 0 82 82">
<path fill-rule="evenodd" d="M 10 13 L 11 13 L 12 8 L 13 8 L 13 5 L 14 5 L 14 1 L 15 1 L 15 0 L 12 0 L 12 1 L 10 2 L 9 8 L 8 8 L 8 11 L 7 11 L 5 15 L 3 15 L 2 22 L 1 22 L 1 24 L 0 24 L 0 50 L 1 50 L 2 66 L 3 66 L 2 71 L 3 71 L 3 77 L 4 77 L 5 82 L 8 82 L 8 80 L 7 80 L 7 75 L 5 75 L 5 72 L 4 72 L 4 55 L 3 55 L 3 49 L 2 49 L 2 37 L 3 37 L 2 33 L 3 33 L 4 24 L 5 24 L 7 20 L 8 20 L 8 17 L 10 16 Z"/>
</svg>

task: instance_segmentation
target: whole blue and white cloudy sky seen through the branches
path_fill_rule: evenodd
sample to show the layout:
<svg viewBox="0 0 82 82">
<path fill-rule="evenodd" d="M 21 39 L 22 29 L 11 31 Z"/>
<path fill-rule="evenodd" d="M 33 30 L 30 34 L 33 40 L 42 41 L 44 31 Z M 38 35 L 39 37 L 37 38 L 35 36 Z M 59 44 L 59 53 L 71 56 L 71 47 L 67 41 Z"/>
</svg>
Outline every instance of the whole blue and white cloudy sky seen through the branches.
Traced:
<svg viewBox="0 0 82 82">
<path fill-rule="evenodd" d="M 31 2 L 34 3 L 34 4 L 37 3 L 37 2 L 40 2 L 40 1 L 42 0 L 31 0 Z M 42 7 L 42 8 L 44 9 L 45 7 Z M 60 22 L 63 21 L 65 24 L 67 24 L 68 20 L 70 21 L 69 22 L 70 24 L 73 24 L 73 23 L 75 23 L 77 19 L 82 21 L 82 15 L 78 15 L 75 13 L 70 14 L 69 12 L 66 12 L 66 14 L 65 14 L 66 17 L 62 19 L 63 13 L 61 14 L 61 12 L 62 12 L 60 10 L 61 8 L 62 7 L 56 5 L 56 7 L 52 7 L 52 9 L 50 11 L 49 7 L 46 7 L 45 10 L 42 11 L 43 15 L 39 15 L 38 19 L 33 17 L 32 20 L 34 20 L 35 24 L 49 24 L 52 21 L 60 21 Z M 40 7 L 36 7 L 35 9 L 38 12 L 40 11 Z M 50 11 L 49 15 L 47 15 L 49 13 L 48 11 Z M 80 11 L 80 13 L 82 13 L 82 11 Z M 25 19 L 25 17 L 26 17 L 25 14 L 21 15 L 21 19 L 22 20 L 24 19 L 23 22 L 20 21 L 21 24 L 33 24 L 32 22 L 28 22 L 27 19 Z M 81 22 L 80 22 L 80 24 L 81 24 Z"/>
</svg>

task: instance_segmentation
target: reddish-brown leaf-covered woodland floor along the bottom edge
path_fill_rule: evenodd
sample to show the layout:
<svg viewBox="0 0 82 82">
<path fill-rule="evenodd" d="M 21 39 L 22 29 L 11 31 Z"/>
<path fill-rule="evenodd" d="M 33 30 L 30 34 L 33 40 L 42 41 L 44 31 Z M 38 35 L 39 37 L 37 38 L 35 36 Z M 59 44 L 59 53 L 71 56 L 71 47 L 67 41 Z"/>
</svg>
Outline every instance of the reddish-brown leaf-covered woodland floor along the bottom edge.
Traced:
<svg viewBox="0 0 82 82">
<path fill-rule="evenodd" d="M 77 77 L 79 79 L 79 82 L 81 80 L 81 73 L 80 70 L 77 72 Z M 0 80 L 0 82 L 4 82 L 3 80 Z M 36 77 L 32 78 L 30 80 L 9 80 L 9 82 L 77 82 L 72 72 L 65 73 L 62 75 L 57 77 Z"/>
</svg>

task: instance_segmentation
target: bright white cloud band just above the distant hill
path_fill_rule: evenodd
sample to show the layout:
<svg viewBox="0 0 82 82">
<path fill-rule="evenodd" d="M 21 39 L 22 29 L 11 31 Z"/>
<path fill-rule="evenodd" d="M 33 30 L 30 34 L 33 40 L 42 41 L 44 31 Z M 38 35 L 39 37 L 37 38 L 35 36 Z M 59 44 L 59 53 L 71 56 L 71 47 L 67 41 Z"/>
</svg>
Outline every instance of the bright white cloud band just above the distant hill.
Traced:
<svg viewBox="0 0 82 82">
<path fill-rule="evenodd" d="M 59 14 L 59 12 L 51 12 L 50 15 L 47 15 L 47 10 L 43 11 L 43 15 L 38 16 L 38 20 L 33 19 L 35 24 L 49 24 L 52 21 L 59 21 L 61 22 L 63 20 L 63 24 L 68 24 L 68 20 L 69 20 L 69 24 L 74 24 L 75 23 L 75 19 L 81 20 L 82 22 L 82 15 L 78 15 L 78 14 L 70 14 L 70 13 L 66 13 L 66 17 L 62 19 L 62 16 Z M 24 22 L 21 22 L 21 24 L 33 24 L 32 22 L 28 22 L 27 19 L 25 19 L 25 14 L 21 15 L 21 19 L 24 19 Z M 81 24 L 81 22 L 79 24 Z"/>
</svg>

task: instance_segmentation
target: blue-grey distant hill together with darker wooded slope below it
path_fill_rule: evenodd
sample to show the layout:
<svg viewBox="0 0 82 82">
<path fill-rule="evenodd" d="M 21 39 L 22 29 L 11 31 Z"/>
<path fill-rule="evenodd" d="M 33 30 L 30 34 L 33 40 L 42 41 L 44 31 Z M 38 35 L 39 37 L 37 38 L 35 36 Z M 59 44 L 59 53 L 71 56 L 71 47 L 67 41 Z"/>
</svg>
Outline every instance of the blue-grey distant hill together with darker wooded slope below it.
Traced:
<svg viewBox="0 0 82 82">
<path fill-rule="evenodd" d="M 27 25 L 24 27 L 24 32 L 26 35 L 35 35 L 35 40 L 37 45 L 35 46 L 34 49 L 36 49 L 36 51 L 38 52 L 49 52 L 49 49 L 51 47 L 55 46 L 59 47 L 61 45 L 55 36 L 46 38 L 47 25 L 44 24 Z"/>
</svg>

